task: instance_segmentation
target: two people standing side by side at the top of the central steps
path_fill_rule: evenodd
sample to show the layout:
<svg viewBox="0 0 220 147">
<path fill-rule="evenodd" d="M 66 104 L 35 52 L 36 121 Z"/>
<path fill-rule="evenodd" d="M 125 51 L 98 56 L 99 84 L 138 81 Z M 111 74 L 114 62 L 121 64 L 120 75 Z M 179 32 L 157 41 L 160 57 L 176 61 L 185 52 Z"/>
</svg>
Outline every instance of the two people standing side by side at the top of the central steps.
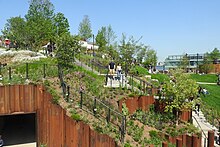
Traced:
<svg viewBox="0 0 220 147">
<path fill-rule="evenodd" d="M 116 72 L 117 73 L 116 80 L 121 80 L 121 73 L 122 73 L 121 64 L 118 63 L 116 66 L 115 63 L 111 61 L 108 67 L 109 67 L 109 74 L 111 78 L 113 79 L 113 74 L 115 74 Z"/>
</svg>

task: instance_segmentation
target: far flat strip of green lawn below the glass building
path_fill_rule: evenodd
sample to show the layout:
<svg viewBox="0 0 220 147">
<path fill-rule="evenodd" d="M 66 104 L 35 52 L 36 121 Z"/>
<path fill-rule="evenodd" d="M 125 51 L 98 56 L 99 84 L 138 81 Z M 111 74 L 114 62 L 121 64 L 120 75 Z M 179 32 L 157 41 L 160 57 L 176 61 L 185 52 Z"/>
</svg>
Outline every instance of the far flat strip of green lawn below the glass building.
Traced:
<svg viewBox="0 0 220 147">
<path fill-rule="evenodd" d="M 216 83 L 217 76 L 215 74 L 190 74 L 191 78 L 196 80 L 197 82 L 207 82 L 207 83 Z"/>
</svg>

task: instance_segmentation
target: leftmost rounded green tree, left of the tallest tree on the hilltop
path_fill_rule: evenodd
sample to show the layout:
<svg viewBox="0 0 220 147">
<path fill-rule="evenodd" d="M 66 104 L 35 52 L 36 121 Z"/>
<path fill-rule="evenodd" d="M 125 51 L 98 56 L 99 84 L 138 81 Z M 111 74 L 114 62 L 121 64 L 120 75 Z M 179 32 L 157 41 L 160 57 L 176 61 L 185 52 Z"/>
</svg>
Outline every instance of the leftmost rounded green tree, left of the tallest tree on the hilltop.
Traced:
<svg viewBox="0 0 220 147">
<path fill-rule="evenodd" d="M 7 20 L 2 34 L 5 38 L 9 38 L 12 42 L 16 42 L 18 47 L 24 47 L 26 40 L 26 22 L 24 18 L 11 17 Z"/>
</svg>

